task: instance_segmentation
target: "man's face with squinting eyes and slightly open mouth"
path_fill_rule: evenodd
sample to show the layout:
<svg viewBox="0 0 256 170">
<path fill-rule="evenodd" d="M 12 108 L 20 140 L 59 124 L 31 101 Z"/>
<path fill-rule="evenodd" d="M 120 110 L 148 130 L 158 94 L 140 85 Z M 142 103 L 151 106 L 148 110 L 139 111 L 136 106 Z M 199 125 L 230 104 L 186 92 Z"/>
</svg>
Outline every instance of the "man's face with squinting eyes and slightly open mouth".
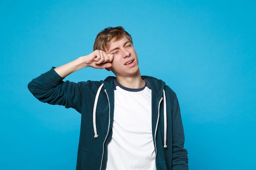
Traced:
<svg viewBox="0 0 256 170">
<path fill-rule="evenodd" d="M 117 41 L 113 38 L 106 53 L 114 55 L 111 70 L 117 77 L 131 77 L 139 73 L 137 53 L 125 36 Z"/>
</svg>

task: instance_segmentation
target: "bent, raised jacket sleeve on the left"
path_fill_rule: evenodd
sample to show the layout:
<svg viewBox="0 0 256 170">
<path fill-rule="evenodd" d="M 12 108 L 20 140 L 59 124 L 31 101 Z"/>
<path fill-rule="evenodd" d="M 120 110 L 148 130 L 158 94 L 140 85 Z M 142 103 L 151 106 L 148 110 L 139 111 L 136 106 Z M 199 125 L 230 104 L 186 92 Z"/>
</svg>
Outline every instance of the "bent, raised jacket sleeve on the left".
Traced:
<svg viewBox="0 0 256 170">
<path fill-rule="evenodd" d="M 63 82 L 63 78 L 52 68 L 29 82 L 28 88 L 41 102 L 74 108 L 81 113 L 83 83 Z"/>
</svg>

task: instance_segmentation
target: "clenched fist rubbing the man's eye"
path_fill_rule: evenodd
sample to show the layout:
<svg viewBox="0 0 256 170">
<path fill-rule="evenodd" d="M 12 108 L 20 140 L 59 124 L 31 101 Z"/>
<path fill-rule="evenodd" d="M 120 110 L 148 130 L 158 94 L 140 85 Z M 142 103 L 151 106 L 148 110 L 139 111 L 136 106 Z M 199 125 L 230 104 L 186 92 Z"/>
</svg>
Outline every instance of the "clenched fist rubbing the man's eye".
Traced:
<svg viewBox="0 0 256 170">
<path fill-rule="evenodd" d="M 83 58 L 87 66 L 93 68 L 106 68 L 106 70 L 110 71 L 114 55 L 106 54 L 105 51 L 95 50 L 89 55 L 83 56 Z"/>
</svg>

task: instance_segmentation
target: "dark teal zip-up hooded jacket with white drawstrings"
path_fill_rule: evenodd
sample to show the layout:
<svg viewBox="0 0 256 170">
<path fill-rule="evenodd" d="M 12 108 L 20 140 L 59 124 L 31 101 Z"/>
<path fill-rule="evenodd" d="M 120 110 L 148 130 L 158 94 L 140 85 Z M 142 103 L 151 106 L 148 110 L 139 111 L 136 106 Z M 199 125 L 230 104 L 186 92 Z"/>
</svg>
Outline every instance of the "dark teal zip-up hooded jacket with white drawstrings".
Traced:
<svg viewBox="0 0 256 170">
<path fill-rule="evenodd" d="M 150 82 L 152 90 L 152 135 L 157 170 L 187 170 L 187 151 L 183 148 L 184 132 L 176 94 L 162 80 L 142 77 Z M 76 170 L 106 169 L 114 116 L 114 78 L 63 82 L 52 68 L 28 84 L 29 91 L 41 102 L 74 108 L 81 113 Z"/>
</svg>

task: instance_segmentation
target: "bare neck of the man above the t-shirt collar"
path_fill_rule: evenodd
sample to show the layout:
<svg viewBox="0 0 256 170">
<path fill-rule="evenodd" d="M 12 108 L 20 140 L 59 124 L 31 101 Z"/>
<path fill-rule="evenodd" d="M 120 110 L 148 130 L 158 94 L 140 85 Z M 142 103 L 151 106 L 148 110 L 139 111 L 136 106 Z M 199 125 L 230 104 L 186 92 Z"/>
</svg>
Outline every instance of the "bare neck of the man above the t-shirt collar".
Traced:
<svg viewBox="0 0 256 170">
<path fill-rule="evenodd" d="M 140 73 L 136 76 L 117 76 L 117 81 L 127 88 L 142 88 L 145 86 L 144 79 L 141 78 Z"/>
</svg>

